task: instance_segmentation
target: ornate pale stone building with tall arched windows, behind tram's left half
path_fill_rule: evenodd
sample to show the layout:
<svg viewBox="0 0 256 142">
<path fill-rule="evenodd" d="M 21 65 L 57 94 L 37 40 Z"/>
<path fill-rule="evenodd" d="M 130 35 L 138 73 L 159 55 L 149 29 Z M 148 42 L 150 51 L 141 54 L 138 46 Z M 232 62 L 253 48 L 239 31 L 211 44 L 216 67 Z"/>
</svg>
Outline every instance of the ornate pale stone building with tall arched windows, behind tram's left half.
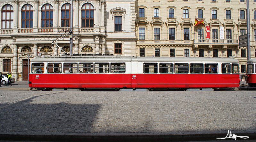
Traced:
<svg viewBox="0 0 256 142">
<path fill-rule="evenodd" d="M 0 70 L 28 80 L 28 58 L 69 52 L 70 1 L 0 0 Z M 136 56 L 135 0 L 74 0 L 73 53 Z M 65 34 L 64 34 L 65 35 Z M 64 52 L 65 51 L 65 52 Z"/>
</svg>

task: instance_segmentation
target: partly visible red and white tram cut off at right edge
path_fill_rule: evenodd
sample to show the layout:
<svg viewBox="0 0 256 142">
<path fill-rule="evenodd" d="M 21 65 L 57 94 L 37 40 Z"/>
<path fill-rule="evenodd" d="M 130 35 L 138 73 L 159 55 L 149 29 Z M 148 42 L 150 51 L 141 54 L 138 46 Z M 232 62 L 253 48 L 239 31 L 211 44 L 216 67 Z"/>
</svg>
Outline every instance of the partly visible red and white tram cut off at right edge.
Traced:
<svg viewBox="0 0 256 142">
<path fill-rule="evenodd" d="M 247 83 L 251 87 L 256 87 L 256 59 L 249 59 L 247 61 Z"/>
</svg>

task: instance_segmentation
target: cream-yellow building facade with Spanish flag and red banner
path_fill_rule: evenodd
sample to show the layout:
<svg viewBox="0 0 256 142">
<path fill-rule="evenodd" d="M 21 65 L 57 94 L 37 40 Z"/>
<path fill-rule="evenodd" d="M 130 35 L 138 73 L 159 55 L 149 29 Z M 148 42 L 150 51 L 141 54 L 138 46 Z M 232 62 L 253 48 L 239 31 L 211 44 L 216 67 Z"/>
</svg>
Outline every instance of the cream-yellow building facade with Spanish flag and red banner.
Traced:
<svg viewBox="0 0 256 142">
<path fill-rule="evenodd" d="M 256 57 L 256 0 L 250 1 L 251 58 Z M 195 19 L 204 22 L 194 25 Z M 246 0 L 137 0 L 136 56 L 235 56 L 246 71 Z"/>
</svg>

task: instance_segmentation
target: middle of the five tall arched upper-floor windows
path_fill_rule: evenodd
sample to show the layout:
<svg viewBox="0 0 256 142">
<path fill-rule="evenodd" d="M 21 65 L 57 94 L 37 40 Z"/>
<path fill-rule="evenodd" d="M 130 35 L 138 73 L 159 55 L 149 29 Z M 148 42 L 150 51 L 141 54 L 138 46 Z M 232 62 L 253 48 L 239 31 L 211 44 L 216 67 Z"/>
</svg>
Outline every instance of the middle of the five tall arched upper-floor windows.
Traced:
<svg viewBox="0 0 256 142">
<path fill-rule="evenodd" d="M 43 5 L 41 15 L 41 27 L 53 27 L 53 6 L 51 4 Z"/>
</svg>

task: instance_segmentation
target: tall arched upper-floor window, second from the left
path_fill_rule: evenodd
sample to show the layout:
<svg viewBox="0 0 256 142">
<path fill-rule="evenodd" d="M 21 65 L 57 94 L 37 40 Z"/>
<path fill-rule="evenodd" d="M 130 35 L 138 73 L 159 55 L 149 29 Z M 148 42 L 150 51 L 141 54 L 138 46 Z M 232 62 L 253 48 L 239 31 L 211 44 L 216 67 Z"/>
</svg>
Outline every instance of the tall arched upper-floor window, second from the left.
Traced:
<svg viewBox="0 0 256 142">
<path fill-rule="evenodd" d="M 21 28 L 33 28 L 33 7 L 30 4 L 21 9 Z"/>
</svg>

